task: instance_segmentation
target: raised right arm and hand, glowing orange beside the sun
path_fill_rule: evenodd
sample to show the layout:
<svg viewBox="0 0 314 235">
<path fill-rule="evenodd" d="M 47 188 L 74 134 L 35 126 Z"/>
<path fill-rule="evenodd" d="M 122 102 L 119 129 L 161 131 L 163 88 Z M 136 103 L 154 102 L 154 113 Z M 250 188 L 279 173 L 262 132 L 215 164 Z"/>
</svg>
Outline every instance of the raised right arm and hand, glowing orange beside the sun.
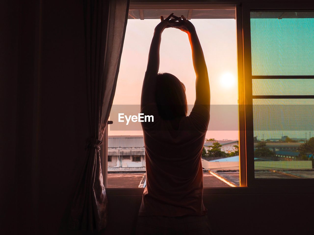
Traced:
<svg viewBox="0 0 314 235">
<path fill-rule="evenodd" d="M 209 80 L 207 66 L 205 63 L 205 58 L 202 50 L 202 46 L 199 42 L 198 36 L 194 25 L 188 21 L 183 15 L 180 17 L 174 16 L 176 22 L 172 23 L 173 26 L 177 29 L 181 29 L 186 32 L 192 49 L 192 60 L 193 66 L 196 74 L 196 99 L 195 104 L 201 104 L 208 108 L 210 105 L 210 89 L 209 89 Z"/>
</svg>

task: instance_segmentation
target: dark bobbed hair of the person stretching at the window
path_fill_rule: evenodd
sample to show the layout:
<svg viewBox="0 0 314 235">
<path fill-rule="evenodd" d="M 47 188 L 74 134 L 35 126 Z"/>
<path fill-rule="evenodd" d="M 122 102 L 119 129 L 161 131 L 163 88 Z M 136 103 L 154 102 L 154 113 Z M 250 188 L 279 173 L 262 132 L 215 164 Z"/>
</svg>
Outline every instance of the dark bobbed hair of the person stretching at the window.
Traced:
<svg viewBox="0 0 314 235">
<path fill-rule="evenodd" d="M 170 73 L 159 73 L 156 79 L 156 103 L 162 119 L 170 120 L 187 115 L 184 84 Z"/>
</svg>

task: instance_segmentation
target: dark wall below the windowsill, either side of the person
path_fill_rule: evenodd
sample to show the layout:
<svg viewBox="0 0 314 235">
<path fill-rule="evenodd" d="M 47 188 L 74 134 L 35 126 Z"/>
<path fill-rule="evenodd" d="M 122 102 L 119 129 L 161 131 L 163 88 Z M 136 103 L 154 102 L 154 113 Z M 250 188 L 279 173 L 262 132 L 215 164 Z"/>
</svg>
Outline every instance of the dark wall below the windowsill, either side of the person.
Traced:
<svg viewBox="0 0 314 235">
<path fill-rule="evenodd" d="M 305 219 L 313 196 L 266 192 L 239 194 L 236 191 L 220 194 L 213 190 L 211 194 L 204 194 L 203 201 L 214 235 L 307 235 L 314 232 L 311 222 Z M 142 196 L 134 193 L 109 195 L 108 200 L 111 216 L 107 228 L 100 234 L 134 234 Z M 120 226 L 122 221 L 123 226 Z"/>
</svg>

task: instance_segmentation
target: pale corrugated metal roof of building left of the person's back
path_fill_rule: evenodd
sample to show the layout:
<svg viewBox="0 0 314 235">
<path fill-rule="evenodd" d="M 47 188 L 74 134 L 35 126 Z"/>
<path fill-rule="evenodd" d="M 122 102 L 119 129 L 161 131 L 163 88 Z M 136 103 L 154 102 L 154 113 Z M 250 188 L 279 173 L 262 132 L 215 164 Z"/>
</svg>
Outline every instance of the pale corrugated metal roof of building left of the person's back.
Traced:
<svg viewBox="0 0 314 235">
<path fill-rule="evenodd" d="M 108 148 L 144 148 L 142 135 L 108 136 Z"/>
</svg>

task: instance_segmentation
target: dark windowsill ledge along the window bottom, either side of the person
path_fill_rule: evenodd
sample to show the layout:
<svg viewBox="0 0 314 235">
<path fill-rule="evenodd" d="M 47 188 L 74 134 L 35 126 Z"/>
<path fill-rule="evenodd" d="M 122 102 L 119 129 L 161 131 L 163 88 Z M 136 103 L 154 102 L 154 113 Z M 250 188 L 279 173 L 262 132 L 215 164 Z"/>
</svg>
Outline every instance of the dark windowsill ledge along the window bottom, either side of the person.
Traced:
<svg viewBox="0 0 314 235">
<path fill-rule="evenodd" d="M 143 195 L 144 188 L 106 188 L 107 195 Z M 314 186 L 204 188 L 203 195 L 217 194 L 299 194 L 314 193 Z"/>
</svg>

